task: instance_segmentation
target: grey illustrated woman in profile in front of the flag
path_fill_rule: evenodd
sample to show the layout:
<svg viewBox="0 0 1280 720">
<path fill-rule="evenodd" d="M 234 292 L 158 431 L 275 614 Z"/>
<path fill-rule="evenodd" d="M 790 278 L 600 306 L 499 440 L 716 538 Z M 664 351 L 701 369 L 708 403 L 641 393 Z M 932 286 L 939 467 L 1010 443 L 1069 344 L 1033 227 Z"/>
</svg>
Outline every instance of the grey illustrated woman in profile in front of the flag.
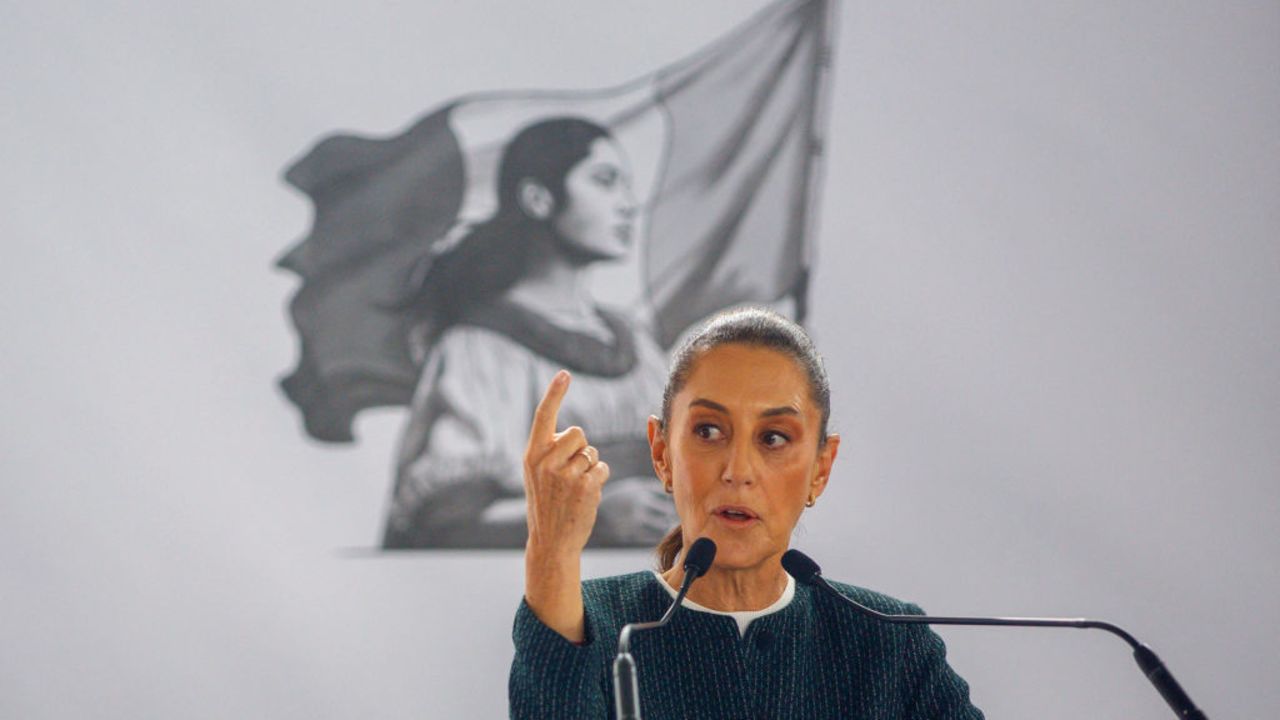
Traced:
<svg viewBox="0 0 1280 720">
<path fill-rule="evenodd" d="M 632 251 L 636 213 L 605 128 L 554 118 L 506 146 L 495 215 L 434 254 L 407 301 L 424 364 L 384 547 L 524 546 L 527 427 L 561 368 L 577 378 L 562 418 L 614 462 L 590 544 L 649 544 L 675 523 L 644 436 L 664 354 L 588 287 L 591 265 Z"/>
</svg>

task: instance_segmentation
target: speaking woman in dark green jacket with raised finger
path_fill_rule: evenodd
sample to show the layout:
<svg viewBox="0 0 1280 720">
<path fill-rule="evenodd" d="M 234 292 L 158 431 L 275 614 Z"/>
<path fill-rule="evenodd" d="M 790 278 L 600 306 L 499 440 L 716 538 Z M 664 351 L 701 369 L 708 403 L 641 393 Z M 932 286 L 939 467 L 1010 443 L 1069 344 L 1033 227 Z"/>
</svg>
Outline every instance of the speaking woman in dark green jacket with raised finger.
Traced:
<svg viewBox="0 0 1280 720">
<path fill-rule="evenodd" d="M 783 571 L 796 521 L 822 496 L 840 448 L 827 433 L 827 374 L 804 331 L 765 310 L 713 318 L 677 350 L 649 419 L 653 468 L 680 525 L 658 571 L 581 582 L 609 465 L 580 428 L 557 430 L 561 372 L 525 454 L 529 541 L 516 614 L 512 717 L 612 717 L 611 664 L 627 623 L 655 620 L 701 537 L 714 562 L 671 624 L 636 637 L 644 717 L 980 719 L 923 625 L 867 619 Z M 837 588 L 883 612 L 913 605 Z"/>
</svg>

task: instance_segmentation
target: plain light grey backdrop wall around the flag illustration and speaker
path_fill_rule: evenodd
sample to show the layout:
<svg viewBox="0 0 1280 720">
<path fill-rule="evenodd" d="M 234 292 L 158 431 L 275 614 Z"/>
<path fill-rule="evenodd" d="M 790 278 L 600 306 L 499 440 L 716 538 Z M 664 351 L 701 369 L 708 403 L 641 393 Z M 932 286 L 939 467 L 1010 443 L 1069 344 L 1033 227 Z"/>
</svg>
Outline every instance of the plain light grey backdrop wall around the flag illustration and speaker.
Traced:
<svg viewBox="0 0 1280 720">
<path fill-rule="evenodd" d="M 517 552 L 379 556 L 401 413 L 303 439 L 280 169 L 614 85 L 760 6 L 5 3 L 0 716 L 502 716 Z M 1280 5 L 850 3 L 797 544 L 952 614 L 1120 623 L 1280 712 Z M 586 574 L 646 566 L 599 552 Z M 1162 719 L 1110 637 L 943 633 L 991 717 Z"/>
</svg>

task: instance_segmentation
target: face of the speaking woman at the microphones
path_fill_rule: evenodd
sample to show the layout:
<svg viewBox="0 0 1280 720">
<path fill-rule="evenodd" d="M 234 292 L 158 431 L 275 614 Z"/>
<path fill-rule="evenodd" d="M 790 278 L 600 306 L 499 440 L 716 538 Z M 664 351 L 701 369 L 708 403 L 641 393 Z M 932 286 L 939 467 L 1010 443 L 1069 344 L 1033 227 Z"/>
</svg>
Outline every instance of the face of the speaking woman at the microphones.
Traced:
<svg viewBox="0 0 1280 720">
<path fill-rule="evenodd" d="M 673 488 L 687 547 L 716 541 L 716 566 L 776 560 L 805 501 L 822 495 L 840 445 L 819 446 L 822 415 L 801 366 L 782 352 L 722 345 L 704 352 L 671 406 L 649 421 L 654 468 Z"/>
</svg>

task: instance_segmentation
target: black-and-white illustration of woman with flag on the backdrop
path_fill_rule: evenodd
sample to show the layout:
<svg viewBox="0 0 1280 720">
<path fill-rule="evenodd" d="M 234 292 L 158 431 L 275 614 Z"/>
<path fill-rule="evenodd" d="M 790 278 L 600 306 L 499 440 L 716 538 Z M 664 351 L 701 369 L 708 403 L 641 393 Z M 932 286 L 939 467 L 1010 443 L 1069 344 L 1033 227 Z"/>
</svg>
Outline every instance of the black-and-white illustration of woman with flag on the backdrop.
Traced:
<svg viewBox="0 0 1280 720">
<path fill-rule="evenodd" d="M 410 407 L 384 547 L 524 547 L 521 456 L 561 368 L 564 420 L 612 466 L 591 544 L 662 539 L 644 424 L 671 345 L 716 310 L 805 306 L 831 12 L 776 4 L 617 88 L 465 96 L 288 169 L 315 224 L 280 261 L 305 279 L 284 392 L 330 442 Z"/>
</svg>

